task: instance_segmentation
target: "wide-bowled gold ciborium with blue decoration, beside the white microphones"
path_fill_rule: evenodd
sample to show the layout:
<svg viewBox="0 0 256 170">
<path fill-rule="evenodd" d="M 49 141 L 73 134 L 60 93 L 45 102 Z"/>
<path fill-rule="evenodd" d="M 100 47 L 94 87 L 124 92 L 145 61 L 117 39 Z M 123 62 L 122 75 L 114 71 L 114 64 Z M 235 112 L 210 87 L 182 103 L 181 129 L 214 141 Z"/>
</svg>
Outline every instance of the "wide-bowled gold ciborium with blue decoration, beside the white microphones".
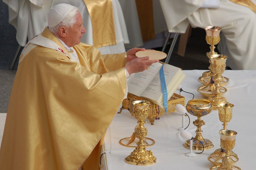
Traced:
<svg viewBox="0 0 256 170">
<path fill-rule="evenodd" d="M 208 115 L 212 111 L 212 105 L 209 100 L 206 99 L 192 99 L 189 100 L 186 105 L 186 110 L 193 116 L 197 117 L 197 120 L 193 124 L 197 127 L 195 139 L 193 139 L 193 150 L 205 150 L 214 147 L 209 139 L 204 139 L 202 137 L 201 126 L 205 125 L 204 120 L 201 120 L 202 116 Z M 197 140 L 196 140 L 197 139 Z M 202 145 L 201 142 L 202 142 Z M 187 140 L 183 146 L 187 149 L 190 148 L 190 140 Z"/>
</svg>

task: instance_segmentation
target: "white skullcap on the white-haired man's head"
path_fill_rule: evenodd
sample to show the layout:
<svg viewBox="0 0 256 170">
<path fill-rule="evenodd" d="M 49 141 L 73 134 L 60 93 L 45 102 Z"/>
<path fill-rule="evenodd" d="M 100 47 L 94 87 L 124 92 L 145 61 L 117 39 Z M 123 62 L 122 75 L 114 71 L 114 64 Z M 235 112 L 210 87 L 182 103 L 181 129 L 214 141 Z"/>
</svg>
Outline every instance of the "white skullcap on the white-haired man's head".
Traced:
<svg viewBox="0 0 256 170">
<path fill-rule="evenodd" d="M 48 27 L 54 27 L 58 25 L 70 12 L 70 8 L 72 5 L 70 4 L 58 4 L 52 7 L 48 13 Z"/>
</svg>

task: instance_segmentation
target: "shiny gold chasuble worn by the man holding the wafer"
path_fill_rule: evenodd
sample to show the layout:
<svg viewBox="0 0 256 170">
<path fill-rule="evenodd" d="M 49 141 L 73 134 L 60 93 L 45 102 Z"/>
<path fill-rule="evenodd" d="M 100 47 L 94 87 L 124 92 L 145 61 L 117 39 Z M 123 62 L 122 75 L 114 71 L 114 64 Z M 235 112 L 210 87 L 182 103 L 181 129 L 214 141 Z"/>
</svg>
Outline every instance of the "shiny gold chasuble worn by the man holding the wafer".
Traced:
<svg viewBox="0 0 256 170">
<path fill-rule="evenodd" d="M 36 44 L 40 37 L 53 49 Z M 77 170 L 111 123 L 126 91 L 126 53 L 101 55 L 84 43 L 73 48 L 81 64 L 70 61 L 48 28 L 25 48 L 6 116 L 1 170 Z"/>
</svg>

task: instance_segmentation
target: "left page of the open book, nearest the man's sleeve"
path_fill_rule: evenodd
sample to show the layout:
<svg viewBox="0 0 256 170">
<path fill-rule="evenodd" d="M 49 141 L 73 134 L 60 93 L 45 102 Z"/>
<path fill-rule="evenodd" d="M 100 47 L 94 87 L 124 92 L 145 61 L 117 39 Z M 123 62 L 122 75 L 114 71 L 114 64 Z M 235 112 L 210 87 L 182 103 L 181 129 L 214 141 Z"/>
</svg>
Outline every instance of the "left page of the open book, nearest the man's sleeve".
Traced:
<svg viewBox="0 0 256 170">
<path fill-rule="evenodd" d="M 127 81 L 128 92 L 136 96 L 141 96 L 151 80 L 159 72 L 161 63 L 153 63 L 148 70 L 132 74 Z"/>
</svg>

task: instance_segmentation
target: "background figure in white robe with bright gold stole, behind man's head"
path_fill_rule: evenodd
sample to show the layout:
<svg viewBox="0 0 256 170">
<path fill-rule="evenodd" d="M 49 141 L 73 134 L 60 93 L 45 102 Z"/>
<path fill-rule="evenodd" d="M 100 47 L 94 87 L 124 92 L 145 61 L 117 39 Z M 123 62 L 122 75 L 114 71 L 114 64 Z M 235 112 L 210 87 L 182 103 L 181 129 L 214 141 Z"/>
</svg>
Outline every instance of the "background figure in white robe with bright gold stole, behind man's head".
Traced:
<svg viewBox="0 0 256 170">
<path fill-rule="evenodd" d="M 3 2 L 9 7 L 9 23 L 17 30 L 16 39 L 20 46 L 25 46 L 27 39 L 30 40 L 47 27 L 47 13 L 52 6 L 59 3 L 68 3 L 79 8 L 83 26 L 87 30 L 81 42 L 94 45 L 102 54 L 125 52 L 124 43 L 129 43 L 118 0 L 3 0 Z"/>
</svg>

